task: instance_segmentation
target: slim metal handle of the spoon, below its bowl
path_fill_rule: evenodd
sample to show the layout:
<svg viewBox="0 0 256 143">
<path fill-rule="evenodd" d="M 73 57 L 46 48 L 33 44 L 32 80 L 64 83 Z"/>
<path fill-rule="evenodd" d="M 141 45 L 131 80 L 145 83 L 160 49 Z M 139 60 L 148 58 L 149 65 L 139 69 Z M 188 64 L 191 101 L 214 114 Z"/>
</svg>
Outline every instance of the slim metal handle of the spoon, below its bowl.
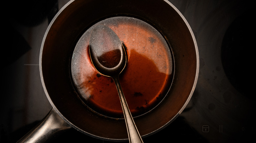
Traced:
<svg viewBox="0 0 256 143">
<path fill-rule="evenodd" d="M 143 143 L 141 136 L 139 135 L 139 131 L 134 123 L 132 114 L 128 108 L 128 105 L 126 103 L 126 100 L 124 98 L 123 90 L 121 88 L 120 82 L 119 82 L 119 77 L 114 76 L 112 77 L 116 86 L 117 86 L 117 91 L 120 97 L 122 109 L 123 109 L 123 114 L 124 114 L 124 119 L 127 127 L 127 132 L 128 132 L 128 137 L 130 143 Z"/>
</svg>

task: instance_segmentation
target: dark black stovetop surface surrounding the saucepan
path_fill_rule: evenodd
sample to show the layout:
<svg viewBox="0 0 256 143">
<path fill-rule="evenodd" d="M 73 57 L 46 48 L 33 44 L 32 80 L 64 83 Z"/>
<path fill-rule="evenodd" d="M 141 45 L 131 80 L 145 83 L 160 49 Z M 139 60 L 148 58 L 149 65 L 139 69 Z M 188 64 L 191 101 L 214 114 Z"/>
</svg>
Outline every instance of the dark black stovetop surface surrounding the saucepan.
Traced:
<svg viewBox="0 0 256 143">
<path fill-rule="evenodd" d="M 253 0 L 169 0 L 197 40 L 200 71 L 181 115 L 144 142 L 255 141 Z M 68 0 L 8 1 L 2 7 L 0 142 L 16 142 L 52 108 L 39 52 L 54 15 Z M 253 64 L 253 65 L 252 65 Z M 49 142 L 109 142 L 71 129 Z"/>
</svg>

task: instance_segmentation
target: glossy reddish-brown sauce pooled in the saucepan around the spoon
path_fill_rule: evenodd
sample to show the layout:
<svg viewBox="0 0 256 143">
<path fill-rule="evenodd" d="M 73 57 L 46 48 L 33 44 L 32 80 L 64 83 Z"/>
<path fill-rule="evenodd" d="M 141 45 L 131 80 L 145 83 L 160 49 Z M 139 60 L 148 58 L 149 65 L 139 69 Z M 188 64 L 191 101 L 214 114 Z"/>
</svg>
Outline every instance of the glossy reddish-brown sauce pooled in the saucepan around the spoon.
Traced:
<svg viewBox="0 0 256 143">
<path fill-rule="evenodd" d="M 172 82 L 174 64 L 168 44 L 155 28 L 139 19 L 113 17 L 97 24 L 110 27 L 127 52 L 127 65 L 119 78 L 132 115 L 150 111 L 161 102 Z M 92 110 L 104 116 L 123 118 L 115 83 L 112 78 L 99 74 L 91 63 L 88 52 L 91 29 L 78 40 L 73 53 L 74 86 L 79 98 Z M 118 56 L 116 52 L 98 58 L 110 61 Z M 106 63 L 106 66 L 110 65 Z"/>
</svg>

